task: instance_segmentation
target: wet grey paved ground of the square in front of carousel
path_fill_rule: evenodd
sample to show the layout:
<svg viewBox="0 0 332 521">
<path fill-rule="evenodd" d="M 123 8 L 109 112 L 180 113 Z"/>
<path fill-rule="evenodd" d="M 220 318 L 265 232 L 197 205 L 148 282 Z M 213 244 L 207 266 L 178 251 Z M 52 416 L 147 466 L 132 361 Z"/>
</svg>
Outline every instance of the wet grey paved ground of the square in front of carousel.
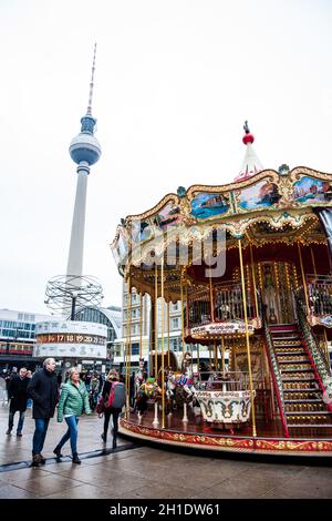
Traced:
<svg viewBox="0 0 332 521">
<path fill-rule="evenodd" d="M 18 416 L 18 415 L 17 415 Z M 92 457 L 105 448 L 101 440 L 103 420 L 95 415 L 80 421 L 79 453 L 82 464 L 70 458 L 56 463 L 52 450 L 65 430 L 64 423 L 51 420 L 43 450 L 48 458 L 41 468 L 21 463 L 17 470 L 4 464 L 31 460 L 34 422 L 28 410 L 23 437 L 15 430 L 6 435 L 8 406 L 0 405 L 0 498 L 332 498 L 331 466 L 303 460 L 287 463 L 264 460 L 240 460 L 160 450 L 120 440 L 107 454 Z M 17 425 L 18 418 L 15 418 Z M 70 446 L 63 449 L 70 456 Z M 1 467 L 2 466 L 2 467 Z"/>
</svg>

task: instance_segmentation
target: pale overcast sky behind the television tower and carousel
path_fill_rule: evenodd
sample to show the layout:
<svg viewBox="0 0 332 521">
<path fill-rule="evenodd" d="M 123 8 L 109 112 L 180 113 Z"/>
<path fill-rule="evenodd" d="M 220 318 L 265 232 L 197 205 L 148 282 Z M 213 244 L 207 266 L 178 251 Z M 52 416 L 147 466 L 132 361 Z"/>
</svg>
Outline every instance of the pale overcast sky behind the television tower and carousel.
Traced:
<svg viewBox="0 0 332 521">
<path fill-rule="evenodd" d="M 264 167 L 332 172 L 331 27 L 331 0 L 0 0 L 0 308 L 48 313 L 65 273 L 94 41 L 83 270 L 110 305 L 120 218 L 231 181 L 246 119 Z"/>
</svg>

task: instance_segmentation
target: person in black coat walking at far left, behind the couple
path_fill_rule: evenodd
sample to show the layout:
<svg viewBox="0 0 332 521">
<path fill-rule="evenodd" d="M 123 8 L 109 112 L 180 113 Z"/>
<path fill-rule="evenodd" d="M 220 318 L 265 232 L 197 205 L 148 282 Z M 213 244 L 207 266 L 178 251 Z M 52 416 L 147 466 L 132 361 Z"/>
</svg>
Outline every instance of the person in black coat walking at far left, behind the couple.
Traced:
<svg viewBox="0 0 332 521">
<path fill-rule="evenodd" d="M 25 416 L 25 410 L 27 410 L 27 401 L 28 401 L 27 388 L 28 388 L 29 381 L 30 381 L 29 378 L 27 378 L 25 367 L 22 367 L 19 371 L 19 375 L 13 377 L 9 381 L 8 397 L 10 399 L 10 406 L 9 406 L 9 418 L 8 418 L 8 430 L 6 432 L 9 436 L 11 435 L 11 431 L 13 428 L 15 412 L 20 412 L 20 418 L 18 422 L 18 428 L 17 428 L 17 436 L 18 437 L 22 436 L 24 416 Z"/>
</svg>

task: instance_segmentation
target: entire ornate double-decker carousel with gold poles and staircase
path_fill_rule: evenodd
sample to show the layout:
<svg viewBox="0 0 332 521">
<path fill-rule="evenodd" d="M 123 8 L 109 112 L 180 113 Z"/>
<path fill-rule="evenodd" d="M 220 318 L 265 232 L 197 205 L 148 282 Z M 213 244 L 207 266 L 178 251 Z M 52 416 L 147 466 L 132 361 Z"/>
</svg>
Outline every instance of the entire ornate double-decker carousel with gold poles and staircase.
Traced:
<svg viewBox="0 0 332 521">
<path fill-rule="evenodd" d="M 332 456 L 332 175 L 263 170 L 247 122 L 242 141 L 231 184 L 179 187 L 117 227 L 111 247 L 128 287 L 121 432 L 201 450 Z M 134 293 L 149 295 L 152 316 L 133 391 Z M 176 353 L 170 303 L 181 309 Z"/>
</svg>

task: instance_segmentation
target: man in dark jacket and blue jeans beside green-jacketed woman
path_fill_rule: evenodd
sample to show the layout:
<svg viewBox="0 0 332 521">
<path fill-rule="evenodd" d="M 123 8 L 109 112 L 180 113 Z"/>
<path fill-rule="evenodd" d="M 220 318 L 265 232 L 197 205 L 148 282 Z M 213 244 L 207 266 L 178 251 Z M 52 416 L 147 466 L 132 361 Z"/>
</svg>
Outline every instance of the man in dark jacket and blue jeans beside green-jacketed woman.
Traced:
<svg viewBox="0 0 332 521">
<path fill-rule="evenodd" d="M 44 464 L 41 453 L 50 419 L 53 417 L 59 401 L 56 376 L 54 374 L 54 358 L 46 358 L 43 369 L 35 372 L 28 386 L 28 394 L 33 400 L 32 418 L 35 421 L 35 430 L 32 440 L 32 466 Z"/>
</svg>

